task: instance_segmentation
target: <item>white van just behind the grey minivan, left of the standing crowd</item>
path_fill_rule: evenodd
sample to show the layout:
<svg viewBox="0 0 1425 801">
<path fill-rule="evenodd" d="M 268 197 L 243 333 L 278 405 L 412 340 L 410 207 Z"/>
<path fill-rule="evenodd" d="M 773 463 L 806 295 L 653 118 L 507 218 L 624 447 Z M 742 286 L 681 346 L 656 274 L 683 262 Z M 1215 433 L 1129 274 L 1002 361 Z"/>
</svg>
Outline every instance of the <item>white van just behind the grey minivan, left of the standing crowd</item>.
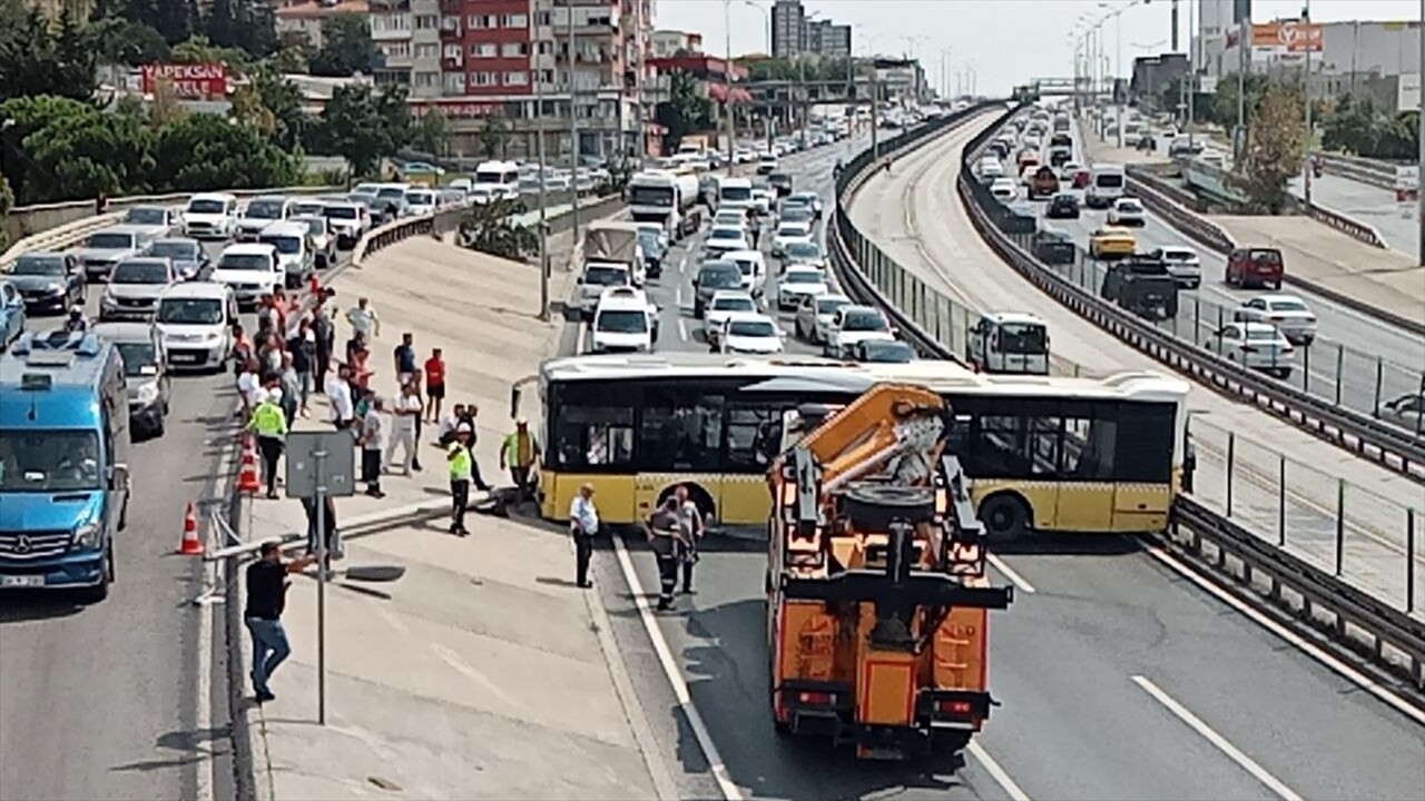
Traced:
<svg viewBox="0 0 1425 801">
<path fill-rule="evenodd" d="M 232 352 L 235 322 L 238 302 L 232 289 L 209 281 L 170 286 L 154 311 L 168 366 L 180 369 L 221 371 Z"/>
</svg>

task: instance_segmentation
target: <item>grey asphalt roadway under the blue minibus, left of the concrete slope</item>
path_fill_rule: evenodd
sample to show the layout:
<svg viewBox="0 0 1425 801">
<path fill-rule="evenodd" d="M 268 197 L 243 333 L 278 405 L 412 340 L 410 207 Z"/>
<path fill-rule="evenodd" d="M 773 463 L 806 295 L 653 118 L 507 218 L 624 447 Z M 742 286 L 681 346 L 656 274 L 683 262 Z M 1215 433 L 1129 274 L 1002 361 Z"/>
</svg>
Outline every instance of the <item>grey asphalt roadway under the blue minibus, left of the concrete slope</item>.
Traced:
<svg viewBox="0 0 1425 801">
<path fill-rule="evenodd" d="M 208 257 L 224 245 L 207 244 Z M 100 291 L 88 291 L 91 319 Z M 202 590 L 200 562 L 174 550 L 187 503 L 227 493 L 231 476 L 218 473 L 237 395 L 231 372 L 175 376 L 172 392 L 164 436 L 134 445 L 108 600 L 23 594 L 0 607 L 0 798 L 231 797 L 222 607 L 188 604 Z M 200 687 L 200 674 L 212 684 Z"/>
</svg>

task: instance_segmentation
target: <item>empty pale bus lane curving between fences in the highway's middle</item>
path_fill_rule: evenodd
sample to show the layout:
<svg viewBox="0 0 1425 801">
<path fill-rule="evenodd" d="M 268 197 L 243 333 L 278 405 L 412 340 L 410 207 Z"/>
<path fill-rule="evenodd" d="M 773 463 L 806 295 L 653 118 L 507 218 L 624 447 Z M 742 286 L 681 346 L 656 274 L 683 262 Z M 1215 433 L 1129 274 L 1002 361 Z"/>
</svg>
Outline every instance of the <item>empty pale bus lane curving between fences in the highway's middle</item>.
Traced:
<svg viewBox="0 0 1425 801">
<path fill-rule="evenodd" d="M 976 311 L 1029 311 L 1049 324 L 1054 356 L 1083 366 L 1087 375 L 1166 368 L 1074 315 L 1005 265 L 969 224 L 955 181 L 960 151 L 992 121 L 952 131 L 896 160 L 891 177 L 871 178 L 852 204 L 852 219 L 932 288 Z M 1102 212 L 1099 212 L 1102 214 Z M 1294 553 L 1332 564 L 1338 479 L 1379 500 L 1348 502 L 1347 572 L 1362 586 L 1404 606 L 1404 510 L 1418 505 L 1419 485 L 1371 462 L 1330 446 L 1250 406 L 1227 400 L 1207 388 L 1188 396 L 1198 448 L 1196 492 L 1216 510 L 1226 510 L 1228 432 L 1234 443 L 1234 519 L 1275 542 L 1278 500 L 1285 497 L 1287 540 Z M 1287 492 L 1280 486 L 1277 453 L 1285 453 Z M 1352 489 L 1352 493 L 1355 490 Z M 1425 563 L 1422 563 L 1425 567 Z M 1419 583 L 1416 583 L 1419 584 Z M 1425 594 L 1419 599 L 1425 603 Z"/>
</svg>

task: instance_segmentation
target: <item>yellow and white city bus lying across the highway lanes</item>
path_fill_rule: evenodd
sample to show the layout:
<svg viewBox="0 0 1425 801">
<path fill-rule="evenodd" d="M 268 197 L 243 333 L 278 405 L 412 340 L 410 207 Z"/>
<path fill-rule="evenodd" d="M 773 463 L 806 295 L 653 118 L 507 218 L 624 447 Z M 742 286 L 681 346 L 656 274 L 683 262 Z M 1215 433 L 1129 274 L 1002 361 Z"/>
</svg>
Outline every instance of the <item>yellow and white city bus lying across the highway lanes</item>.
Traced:
<svg viewBox="0 0 1425 801">
<path fill-rule="evenodd" d="M 608 523 L 646 519 L 673 487 L 722 524 L 765 524 L 782 415 L 846 403 L 876 382 L 921 383 L 955 415 L 952 446 L 986 530 L 1159 532 L 1181 480 L 1186 382 L 993 376 L 955 362 L 817 356 L 596 355 L 540 366 L 542 515 L 561 520 L 584 482 Z M 533 376 L 532 376 L 533 379 Z"/>
</svg>

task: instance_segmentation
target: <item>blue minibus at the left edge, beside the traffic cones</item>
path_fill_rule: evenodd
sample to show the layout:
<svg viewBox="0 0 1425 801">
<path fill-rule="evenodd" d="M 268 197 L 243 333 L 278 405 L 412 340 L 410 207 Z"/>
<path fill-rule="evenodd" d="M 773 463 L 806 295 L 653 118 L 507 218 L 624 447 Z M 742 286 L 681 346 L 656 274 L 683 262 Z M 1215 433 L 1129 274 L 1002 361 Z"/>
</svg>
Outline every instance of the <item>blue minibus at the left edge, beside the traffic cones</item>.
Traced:
<svg viewBox="0 0 1425 801">
<path fill-rule="evenodd" d="M 128 510 L 128 396 L 94 334 L 27 334 L 0 355 L 0 590 L 100 601 Z"/>
</svg>

